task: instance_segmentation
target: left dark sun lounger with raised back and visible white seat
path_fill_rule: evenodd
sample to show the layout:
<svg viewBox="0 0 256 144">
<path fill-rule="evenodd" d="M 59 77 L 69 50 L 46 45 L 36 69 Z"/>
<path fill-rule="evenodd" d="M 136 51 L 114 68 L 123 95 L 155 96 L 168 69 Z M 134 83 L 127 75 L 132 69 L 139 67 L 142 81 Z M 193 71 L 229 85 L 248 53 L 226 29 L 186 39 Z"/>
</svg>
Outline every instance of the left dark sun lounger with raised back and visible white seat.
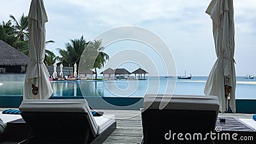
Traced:
<svg viewBox="0 0 256 144">
<path fill-rule="evenodd" d="M 84 99 L 23 100 L 31 134 L 21 143 L 102 143 L 116 129 L 115 115 L 93 118 Z"/>
</svg>

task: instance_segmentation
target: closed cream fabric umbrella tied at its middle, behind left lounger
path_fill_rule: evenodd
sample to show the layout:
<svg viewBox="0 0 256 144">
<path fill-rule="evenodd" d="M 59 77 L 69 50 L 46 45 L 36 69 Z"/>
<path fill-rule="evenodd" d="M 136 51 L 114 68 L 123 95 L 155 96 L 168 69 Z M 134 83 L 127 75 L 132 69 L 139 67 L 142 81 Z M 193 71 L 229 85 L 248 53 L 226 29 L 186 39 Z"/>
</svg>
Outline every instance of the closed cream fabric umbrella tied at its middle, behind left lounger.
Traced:
<svg viewBox="0 0 256 144">
<path fill-rule="evenodd" d="M 47 15 L 42 0 L 32 0 L 29 15 L 29 65 L 24 83 L 24 99 L 49 99 L 52 87 L 49 72 L 44 65 L 45 22 Z M 32 88 L 32 90 L 31 90 Z"/>
</svg>

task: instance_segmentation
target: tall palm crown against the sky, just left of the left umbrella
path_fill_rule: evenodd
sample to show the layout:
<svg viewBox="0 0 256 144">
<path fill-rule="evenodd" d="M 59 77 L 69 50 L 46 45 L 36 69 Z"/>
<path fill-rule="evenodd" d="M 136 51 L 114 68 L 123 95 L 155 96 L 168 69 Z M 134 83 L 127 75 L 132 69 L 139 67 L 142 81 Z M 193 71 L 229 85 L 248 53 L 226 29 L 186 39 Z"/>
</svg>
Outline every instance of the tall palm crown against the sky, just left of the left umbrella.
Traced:
<svg viewBox="0 0 256 144">
<path fill-rule="evenodd" d="M 22 42 L 28 40 L 28 16 L 25 16 L 24 13 L 20 17 L 19 21 L 10 15 L 10 18 L 14 22 L 12 28 L 14 29 L 13 33 L 17 38 L 20 38 Z"/>
</svg>

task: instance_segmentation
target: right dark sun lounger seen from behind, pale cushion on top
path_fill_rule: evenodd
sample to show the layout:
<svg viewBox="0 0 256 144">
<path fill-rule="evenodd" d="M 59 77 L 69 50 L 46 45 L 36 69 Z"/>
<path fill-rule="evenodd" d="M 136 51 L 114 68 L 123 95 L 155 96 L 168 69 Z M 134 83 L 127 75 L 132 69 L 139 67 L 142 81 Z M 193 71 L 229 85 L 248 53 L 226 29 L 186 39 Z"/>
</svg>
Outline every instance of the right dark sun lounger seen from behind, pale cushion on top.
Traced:
<svg viewBox="0 0 256 144">
<path fill-rule="evenodd" d="M 163 109 L 159 109 L 161 102 L 167 104 Z M 210 138 L 200 140 L 199 133 L 204 139 L 206 133 L 214 132 L 218 110 L 214 96 L 145 95 L 141 143 L 212 143 Z M 186 140 L 186 134 L 187 138 L 191 134 L 191 140 Z"/>
</svg>

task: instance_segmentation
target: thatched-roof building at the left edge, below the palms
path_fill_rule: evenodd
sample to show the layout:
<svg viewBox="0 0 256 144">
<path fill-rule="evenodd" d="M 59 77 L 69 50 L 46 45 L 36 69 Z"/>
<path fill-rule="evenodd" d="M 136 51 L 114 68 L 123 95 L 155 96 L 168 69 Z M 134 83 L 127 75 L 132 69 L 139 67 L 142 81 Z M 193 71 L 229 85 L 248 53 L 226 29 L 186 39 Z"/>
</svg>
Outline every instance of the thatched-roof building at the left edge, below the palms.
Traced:
<svg viewBox="0 0 256 144">
<path fill-rule="evenodd" d="M 0 72 L 25 73 L 29 57 L 0 40 Z"/>
</svg>

